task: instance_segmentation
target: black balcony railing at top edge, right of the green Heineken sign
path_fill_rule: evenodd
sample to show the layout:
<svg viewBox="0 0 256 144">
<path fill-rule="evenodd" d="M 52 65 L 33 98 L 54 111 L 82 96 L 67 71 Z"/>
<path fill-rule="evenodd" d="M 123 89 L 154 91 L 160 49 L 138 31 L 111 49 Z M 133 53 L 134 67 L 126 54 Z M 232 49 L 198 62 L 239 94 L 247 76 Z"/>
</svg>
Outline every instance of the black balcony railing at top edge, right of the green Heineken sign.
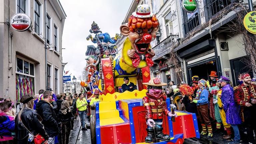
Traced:
<svg viewBox="0 0 256 144">
<path fill-rule="evenodd" d="M 208 3 L 204 6 L 208 9 L 209 19 L 212 18 L 219 11 L 230 5 L 231 3 L 237 2 L 238 0 L 208 0 Z"/>
</svg>

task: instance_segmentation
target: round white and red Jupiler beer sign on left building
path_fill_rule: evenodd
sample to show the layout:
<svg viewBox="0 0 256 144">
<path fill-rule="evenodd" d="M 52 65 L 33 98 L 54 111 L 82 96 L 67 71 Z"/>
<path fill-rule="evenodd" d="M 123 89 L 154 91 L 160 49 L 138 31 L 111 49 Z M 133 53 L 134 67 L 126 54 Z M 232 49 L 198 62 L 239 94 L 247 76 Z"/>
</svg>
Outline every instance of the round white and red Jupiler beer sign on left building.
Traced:
<svg viewBox="0 0 256 144">
<path fill-rule="evenodd" d="M 16 31 L 25 31 L 31 26 L 31 19 L 24 13 L 17 13 L 12 16 L 10 24 Z"/>
</svg>

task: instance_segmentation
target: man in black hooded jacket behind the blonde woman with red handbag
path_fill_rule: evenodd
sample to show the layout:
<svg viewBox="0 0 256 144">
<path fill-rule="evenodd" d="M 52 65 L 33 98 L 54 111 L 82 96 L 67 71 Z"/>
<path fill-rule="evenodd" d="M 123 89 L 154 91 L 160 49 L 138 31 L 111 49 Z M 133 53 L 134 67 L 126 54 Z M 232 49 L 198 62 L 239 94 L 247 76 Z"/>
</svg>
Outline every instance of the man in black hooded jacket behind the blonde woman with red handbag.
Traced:
<svg viewBox="0 0 256 144">
<path fill-rule="evenodd" d="M 59 133 L 57 115 L 53 110 L 53 106 L 50 103 L 51 101 L 52 92 L 45 91 L 44 100 L 40 100 L 36 106 L 38 114 L 43 119 L 42 124 L 44 125 L 45 131 L 49 135 L 48 144 L 54 144 L 55 136 Z"/>
</svg>

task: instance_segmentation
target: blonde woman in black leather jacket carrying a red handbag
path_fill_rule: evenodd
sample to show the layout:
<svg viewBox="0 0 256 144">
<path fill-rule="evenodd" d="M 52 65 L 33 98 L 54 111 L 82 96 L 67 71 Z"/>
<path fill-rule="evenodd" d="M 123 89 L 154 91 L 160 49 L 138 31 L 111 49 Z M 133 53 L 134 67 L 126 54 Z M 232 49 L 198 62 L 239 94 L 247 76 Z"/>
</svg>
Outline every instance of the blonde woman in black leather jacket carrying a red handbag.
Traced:
<svg viewBox="0 0 256 144">
<path fill-rule="evenodd" d="M 47 143 L 49 136 L 44 130 L 44 126 L 39 121 L 41 119 L 37 112 L 33 110 L 34 98 L 27 94 L 21 97 L 20 102 L 23 106 L 15 117 L 15 137 L 17 139 L 17 144 L 33 144 L 34 141 L 31 140 L 33 135 L 40 134 Z M 31 132 L 31 133 L 30 133 Z"/>
</svg>

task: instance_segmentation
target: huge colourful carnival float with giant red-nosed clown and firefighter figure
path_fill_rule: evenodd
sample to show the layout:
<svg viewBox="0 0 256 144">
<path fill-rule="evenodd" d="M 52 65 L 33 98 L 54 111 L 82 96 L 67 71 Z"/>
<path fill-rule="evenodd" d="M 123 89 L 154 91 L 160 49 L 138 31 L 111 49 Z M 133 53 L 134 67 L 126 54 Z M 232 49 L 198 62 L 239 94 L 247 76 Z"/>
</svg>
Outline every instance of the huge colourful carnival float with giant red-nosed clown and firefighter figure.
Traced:
<svg viewBox="0 0 256 144">
<path fill-rule="evenodd" d="M 97 44 L 87 46 L 88 86 L 99 90 L 99 101 L 91 107 L 92 144 L 182 144 L 184 139 L 200 137 L 194 113 L 175 111 L 170 99 L 162 93 L 158 78 L 150 78 L 154 51 L 150 42 L 156 38 L 159 22 L 148 5 L 138 5 L 120 27 L 127 36 L 117 54 L 118 34 L 110 37 L 93 22 L 87 40 Z M 118 92 L 123 78 L 138 85 L 138 90 Z M 89 99 L 88 99 L 89 100 Z M 177 114 L 177 116 L 176 116 Z"/>
</svg>

